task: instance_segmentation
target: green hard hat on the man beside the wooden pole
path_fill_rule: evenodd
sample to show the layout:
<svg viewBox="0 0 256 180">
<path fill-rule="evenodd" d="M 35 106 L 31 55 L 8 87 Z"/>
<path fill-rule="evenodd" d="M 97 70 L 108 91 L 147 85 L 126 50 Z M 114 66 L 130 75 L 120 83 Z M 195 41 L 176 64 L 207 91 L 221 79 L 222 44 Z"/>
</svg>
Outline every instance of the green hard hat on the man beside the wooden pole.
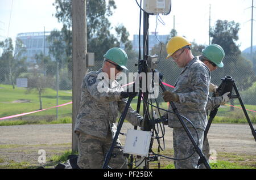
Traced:
<svg viewBox="0 0 256 180">
<path fill-rule="evenodd" d="M 108 52 L 106 52 L 106 54 L 103 55 L 103 57 L 117 63 L 117 65 L 128 70 L 126 67 L 128 56 L 126 52 L 121 48 L 111 48 L 108 50 Z"/>
</svg>

